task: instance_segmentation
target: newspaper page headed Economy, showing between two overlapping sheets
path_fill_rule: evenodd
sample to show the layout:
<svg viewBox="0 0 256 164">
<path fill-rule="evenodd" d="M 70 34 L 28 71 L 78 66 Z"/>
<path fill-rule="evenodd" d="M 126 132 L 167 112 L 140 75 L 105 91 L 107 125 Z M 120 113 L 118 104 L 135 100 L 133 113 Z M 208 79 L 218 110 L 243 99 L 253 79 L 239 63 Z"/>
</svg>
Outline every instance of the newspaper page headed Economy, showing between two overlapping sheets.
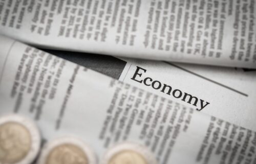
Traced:
<svg viewBox="0 0 256 164">
<path fill-rule="evenodd" d="M 256 69 L 45 50 L 97 72 L 256 131 Z"/>
</svg>

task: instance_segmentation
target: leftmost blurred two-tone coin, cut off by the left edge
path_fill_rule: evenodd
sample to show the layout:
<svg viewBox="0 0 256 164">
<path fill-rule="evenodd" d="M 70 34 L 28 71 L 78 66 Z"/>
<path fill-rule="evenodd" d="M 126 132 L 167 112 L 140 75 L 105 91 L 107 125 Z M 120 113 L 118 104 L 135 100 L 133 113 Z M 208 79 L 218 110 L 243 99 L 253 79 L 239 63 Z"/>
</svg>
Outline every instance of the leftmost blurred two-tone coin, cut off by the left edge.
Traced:
<svg viewBox="0 0 256 164">
<path fill-rule="evenodd" d="M 19 115 L 0 118 L 0 164 L 30 164 L 40 148 L 35 124 Z"/>
</svg>

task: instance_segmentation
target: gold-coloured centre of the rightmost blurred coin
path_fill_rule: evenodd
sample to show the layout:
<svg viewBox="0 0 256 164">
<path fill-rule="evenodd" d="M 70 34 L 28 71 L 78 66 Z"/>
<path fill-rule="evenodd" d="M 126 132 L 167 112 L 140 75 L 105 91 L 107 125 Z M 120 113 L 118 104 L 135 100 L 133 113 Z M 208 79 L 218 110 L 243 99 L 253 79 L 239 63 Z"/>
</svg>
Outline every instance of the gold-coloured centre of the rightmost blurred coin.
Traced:
<svg viewBox="0 0 256 164">
<path fill-rule="evenodd" d="M 115 154 L 109 161 L 109 164 L 147 164 L 144 157 L 131 150 L 125 150 Z"/>
</svg>

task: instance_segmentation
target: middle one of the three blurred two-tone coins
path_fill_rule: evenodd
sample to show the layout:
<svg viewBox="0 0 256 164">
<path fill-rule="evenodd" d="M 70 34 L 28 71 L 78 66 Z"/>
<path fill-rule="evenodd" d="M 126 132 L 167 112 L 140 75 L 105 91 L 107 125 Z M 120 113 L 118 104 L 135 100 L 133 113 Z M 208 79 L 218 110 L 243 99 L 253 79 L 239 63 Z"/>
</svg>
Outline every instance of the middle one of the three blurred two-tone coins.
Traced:
<svg viewBox="0 0 256 164">
<path fill-rule="evenodd" d="M 95 164 L 96 156 L 80 139 L 61 137 L 44 146 L 38 164 Z"/>
</svg>

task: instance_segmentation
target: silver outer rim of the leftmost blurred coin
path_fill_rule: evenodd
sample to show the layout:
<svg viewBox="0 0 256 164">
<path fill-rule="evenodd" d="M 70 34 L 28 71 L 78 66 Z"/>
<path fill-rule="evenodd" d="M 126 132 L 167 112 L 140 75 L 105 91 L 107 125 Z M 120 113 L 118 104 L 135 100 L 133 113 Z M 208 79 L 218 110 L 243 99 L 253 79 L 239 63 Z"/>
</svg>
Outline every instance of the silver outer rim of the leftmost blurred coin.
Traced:
<svg viewBox="0 0 256 164">
<path fill-rule="evenodd" d="M 22 115 L 17 114 L 7 114 L 0 117 L 0 125 L 6 124 L 8 122 L 14 122 L 23 125 L 27 128 L 31 135 L 31 148 L 28 152 L 27 156 L 23 158 L 21 161 L 16 162 L 15 164 L 28 164 L 32 163 L 35 158 L 37 157 L 39 150 L 40 150 L 40 144 L 41 144 L 41 136 L 38 127 L 35 125 L 35 123 L 26 118 Z M 0 162 L 0 164 L 2 164 Z"/>
</svg>

